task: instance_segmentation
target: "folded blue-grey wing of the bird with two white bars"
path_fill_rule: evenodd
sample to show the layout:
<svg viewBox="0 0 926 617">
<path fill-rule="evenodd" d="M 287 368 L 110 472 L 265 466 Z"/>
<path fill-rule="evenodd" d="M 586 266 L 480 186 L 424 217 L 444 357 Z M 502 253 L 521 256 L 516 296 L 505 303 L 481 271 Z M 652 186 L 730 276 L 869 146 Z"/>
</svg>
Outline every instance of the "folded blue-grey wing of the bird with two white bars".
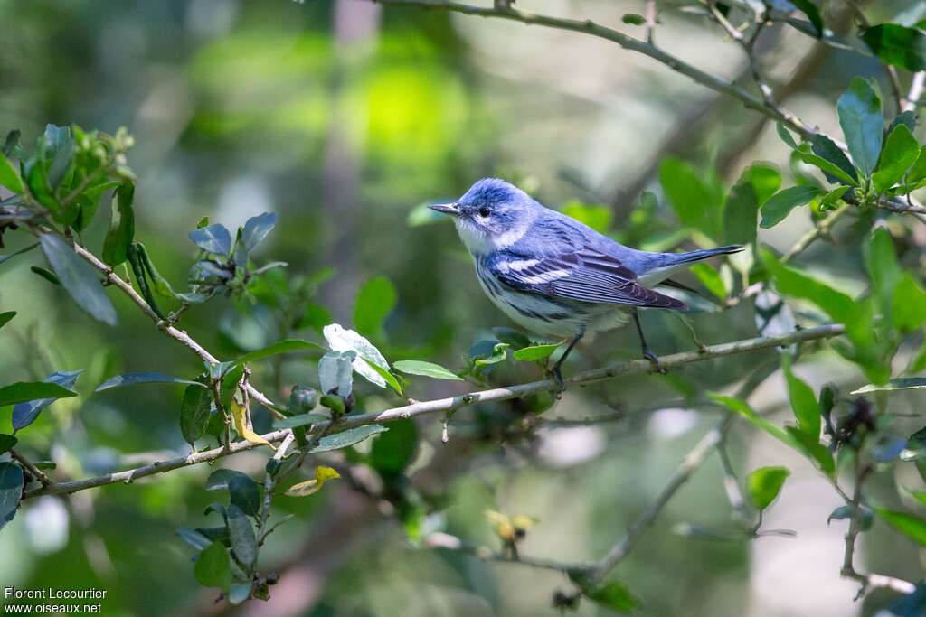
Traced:
<svg viewBox="0 0 926 617">
<path fill-rule="evenodd" d="M 559 251 L 516 244 L 496 253 L 489 267 L 508 287 L 582 302 L 609 302 L 684 310 L 684 302 L 645 288 L 620 260 L 597 248 L 561 243 Z M 539 248 L 539 247 L 538 247 Z"/>
</svg>

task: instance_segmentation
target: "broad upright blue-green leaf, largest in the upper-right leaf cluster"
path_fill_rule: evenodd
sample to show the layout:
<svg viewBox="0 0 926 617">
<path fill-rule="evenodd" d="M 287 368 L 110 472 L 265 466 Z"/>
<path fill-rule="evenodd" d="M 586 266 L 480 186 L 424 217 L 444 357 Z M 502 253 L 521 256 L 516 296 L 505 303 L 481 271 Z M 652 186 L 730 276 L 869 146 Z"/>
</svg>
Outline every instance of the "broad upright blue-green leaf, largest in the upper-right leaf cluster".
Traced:
<svg viewBox="0 0 926 617">
<path fill-rule="evenodd" d="M 836 111 L 852 160 L 861 175 L 870 178 L 881 154 L 884 130 L 881 99 L 868 81 L 854 77 L 849 89 L 836 102 Z"/>
</svg>

